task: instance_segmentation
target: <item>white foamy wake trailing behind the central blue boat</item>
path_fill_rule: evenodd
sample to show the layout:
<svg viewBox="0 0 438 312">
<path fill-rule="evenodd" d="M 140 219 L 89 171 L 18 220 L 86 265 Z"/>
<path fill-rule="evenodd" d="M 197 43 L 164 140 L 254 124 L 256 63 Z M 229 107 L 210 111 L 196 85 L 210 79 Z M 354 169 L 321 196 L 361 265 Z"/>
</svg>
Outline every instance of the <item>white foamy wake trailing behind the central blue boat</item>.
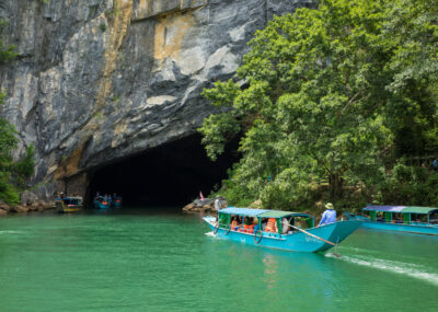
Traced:
<svg viewBox="0 0 438 312">
<path fill-rule="evenodd" d="M 335 257 L 332 253 L 326 253 L 326 257 Z M 358 258 L 351 256 L 343 255 L 341 261 L 345 261 L 348 263 L 353 263 L 356 265 L 372 267 L 390 273 L 401 274 L 405 276 L 410 276 L 413 278 L 422 279 L 428 281 L 435 286 L 438 286 L 438 274 L 429 273 L 424 266 L 410 264 L 410 263 L 401 263 L 393 261 L 385 261 L 379 258 Z"/>
</svg>

